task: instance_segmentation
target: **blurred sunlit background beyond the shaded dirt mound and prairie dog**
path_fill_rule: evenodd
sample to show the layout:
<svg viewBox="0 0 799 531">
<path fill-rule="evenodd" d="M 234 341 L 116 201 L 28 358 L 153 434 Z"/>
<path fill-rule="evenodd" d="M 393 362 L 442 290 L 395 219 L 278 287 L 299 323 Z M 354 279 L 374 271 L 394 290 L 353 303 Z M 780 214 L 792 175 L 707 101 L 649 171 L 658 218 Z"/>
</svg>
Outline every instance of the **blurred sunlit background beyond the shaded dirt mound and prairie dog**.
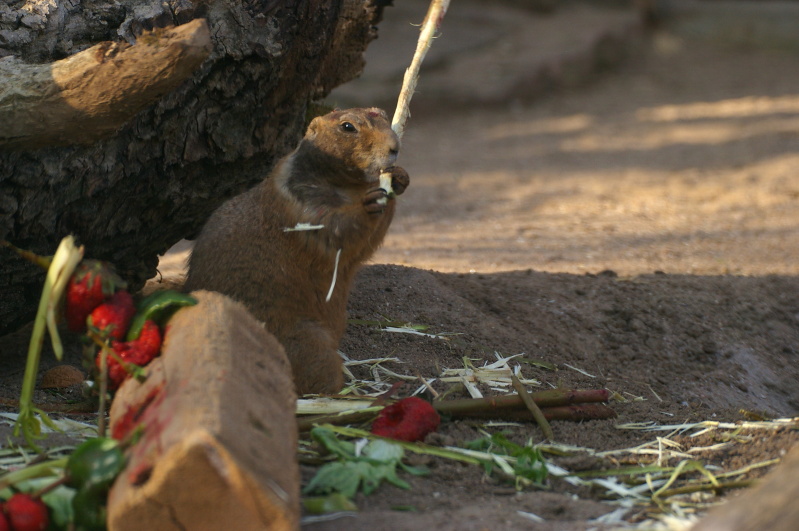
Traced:
<svg viewBox="0 0 799 531">
<path fill-rule="evenodd" d="M 393 112 L 426 0 L 338 107 Z M 799 2 L 453 0 L 376 262 L 453 272 L 799 272 Z M 179 273 L 180 244 L 162 261 Z"/>
</svg>

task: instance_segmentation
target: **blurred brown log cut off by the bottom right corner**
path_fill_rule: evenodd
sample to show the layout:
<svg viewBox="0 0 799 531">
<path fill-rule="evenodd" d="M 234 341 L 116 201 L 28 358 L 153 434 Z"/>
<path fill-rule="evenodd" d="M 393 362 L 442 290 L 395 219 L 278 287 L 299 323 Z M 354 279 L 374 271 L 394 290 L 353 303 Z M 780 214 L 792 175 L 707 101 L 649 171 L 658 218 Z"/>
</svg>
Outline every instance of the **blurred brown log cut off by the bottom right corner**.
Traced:
<svg viewBox="0 0 799 531">
<path fill-rule="evenodd" d="M 730 495 L 692 531 L 795 531 L 799 529 L 799 446 L 756 487 Z"/>
</svg>

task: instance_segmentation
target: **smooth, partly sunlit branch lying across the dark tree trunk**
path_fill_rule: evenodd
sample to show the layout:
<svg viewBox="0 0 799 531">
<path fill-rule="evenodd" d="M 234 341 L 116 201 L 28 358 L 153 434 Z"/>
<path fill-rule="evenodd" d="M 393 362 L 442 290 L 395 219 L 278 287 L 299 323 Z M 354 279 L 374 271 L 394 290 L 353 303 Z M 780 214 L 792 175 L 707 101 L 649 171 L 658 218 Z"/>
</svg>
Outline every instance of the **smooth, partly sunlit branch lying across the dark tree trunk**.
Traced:
<svg viewBox="0 0 799 531">
<path fill-rule="evenodd" d="M 0 60 L 0 148 L 91 143 L 178 87 L 211 52 L 205 20 L 50 64 Z"/>
</svg>

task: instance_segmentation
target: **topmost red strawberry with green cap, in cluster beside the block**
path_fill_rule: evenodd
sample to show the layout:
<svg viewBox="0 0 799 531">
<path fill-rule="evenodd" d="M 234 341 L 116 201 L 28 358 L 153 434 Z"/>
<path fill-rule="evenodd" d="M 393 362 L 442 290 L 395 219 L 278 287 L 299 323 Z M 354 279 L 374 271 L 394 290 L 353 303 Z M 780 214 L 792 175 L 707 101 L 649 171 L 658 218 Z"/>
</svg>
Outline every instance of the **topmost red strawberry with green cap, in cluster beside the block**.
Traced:
<svg viewBox="0 0 799 531">
<path fill-rule="evenodd" d="M 97 260 L 84 260 L 78 264 L 67 284 L 67 327 L 73 332 L 86 330 L 86 317 L 125 283 L 111 266 Z"/>
</svg>

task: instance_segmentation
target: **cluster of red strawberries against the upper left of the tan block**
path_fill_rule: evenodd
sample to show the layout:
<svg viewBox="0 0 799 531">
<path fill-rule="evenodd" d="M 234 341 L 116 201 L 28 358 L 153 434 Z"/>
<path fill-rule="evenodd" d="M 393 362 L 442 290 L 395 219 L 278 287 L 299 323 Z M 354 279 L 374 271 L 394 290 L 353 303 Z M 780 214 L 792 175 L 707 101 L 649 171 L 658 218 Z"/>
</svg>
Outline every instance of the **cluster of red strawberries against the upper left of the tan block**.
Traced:
<svg viewBox="0 0 799 531">
<path fill-rule="evenodd" d="M 111 389 L 118 388 L 128 377 L 127 364 L 146 365 L 161 350 L 161 330 L 154 321 L 145 321 L 139 336 L 125 341 L 136 315 L 133 297 L 125 287 L 107 264 L 84 260 L 72 275 L 66 292 L 67 327 L 74 332 L 88 330 L 102 340 L 111 341 L 113 354 L 106 358 Z M 98 368 L 101 356 L 102 351 L 95 359 Z"/>
</svg>

